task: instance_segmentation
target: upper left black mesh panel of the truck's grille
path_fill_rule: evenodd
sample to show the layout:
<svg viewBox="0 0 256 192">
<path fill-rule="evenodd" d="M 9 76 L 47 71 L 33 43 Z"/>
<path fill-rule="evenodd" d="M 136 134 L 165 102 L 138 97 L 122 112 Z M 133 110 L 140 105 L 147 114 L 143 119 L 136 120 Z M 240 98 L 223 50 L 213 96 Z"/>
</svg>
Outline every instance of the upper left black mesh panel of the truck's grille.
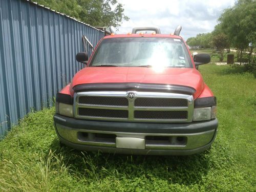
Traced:
<svg viewBox="0 0 256 192">
<path fill-rule="evenodd" d="M 128 99 L 125 97 L 81 96 L 78 102 L 81 104 L 128 106 Z"/>
</svg>

